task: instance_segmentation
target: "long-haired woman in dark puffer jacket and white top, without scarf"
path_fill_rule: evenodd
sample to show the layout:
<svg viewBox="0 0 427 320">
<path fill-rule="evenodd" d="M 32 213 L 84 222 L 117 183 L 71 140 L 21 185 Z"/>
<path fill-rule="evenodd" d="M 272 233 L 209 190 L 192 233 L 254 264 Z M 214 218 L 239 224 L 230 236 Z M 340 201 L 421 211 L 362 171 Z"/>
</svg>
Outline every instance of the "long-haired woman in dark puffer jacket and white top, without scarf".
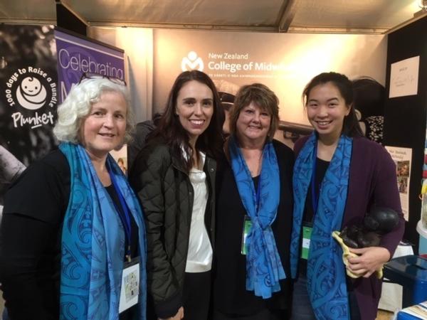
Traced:
<svg viewBox="0 0 427 320">
<path fill-rule="evenodd" d="M 130 172 L 147 219 L 147 281 L 159 319 L 208 317 L 222 124 L 211 78 L 181 73 Z"/>
</svg>

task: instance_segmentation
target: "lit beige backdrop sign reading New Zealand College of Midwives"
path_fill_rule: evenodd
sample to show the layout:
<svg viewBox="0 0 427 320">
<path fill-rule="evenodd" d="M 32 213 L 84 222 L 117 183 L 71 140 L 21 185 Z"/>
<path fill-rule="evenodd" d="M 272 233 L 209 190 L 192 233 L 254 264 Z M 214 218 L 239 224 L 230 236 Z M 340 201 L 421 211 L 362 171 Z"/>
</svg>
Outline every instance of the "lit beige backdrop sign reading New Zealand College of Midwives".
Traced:
<svg viewBox="0 0 427 320">
<path fill-rule="evenodd" d="M 309 124 L 301 95 L 319 73 L 336 71 L 351 79 L 368 76 L 381 84 L 386 80 L 383 35 L 154 29 L 152 41 L 147 60 L 153 62 L 149 107 L 154 112 L 161 112 L 167 104 L 169 90 L 182 70 L 203 70 L 214 82 L 227 82 L 231 87 L 263 83 L 279 98 L 280 119 L 297 124 Z M 128 52 L 132 46 L 123 47 Z M 325 46 L 329 50 L 319 50 Z"/>
</svg>

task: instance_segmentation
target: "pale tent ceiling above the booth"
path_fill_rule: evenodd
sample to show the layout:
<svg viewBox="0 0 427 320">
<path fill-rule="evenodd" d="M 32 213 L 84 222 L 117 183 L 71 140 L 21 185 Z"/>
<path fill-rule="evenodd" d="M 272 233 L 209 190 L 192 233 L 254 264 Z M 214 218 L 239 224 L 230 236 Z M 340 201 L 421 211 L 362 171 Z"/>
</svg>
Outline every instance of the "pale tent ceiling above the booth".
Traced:
<svg viewBox="0 0 427 320">
<path fill-rule="evenodd" d="M 90 26 L 385 33 L 413 20 L 420 1 L 0 0 L 0 22 L 55 24 L 60 2 Z"/>
</svg>

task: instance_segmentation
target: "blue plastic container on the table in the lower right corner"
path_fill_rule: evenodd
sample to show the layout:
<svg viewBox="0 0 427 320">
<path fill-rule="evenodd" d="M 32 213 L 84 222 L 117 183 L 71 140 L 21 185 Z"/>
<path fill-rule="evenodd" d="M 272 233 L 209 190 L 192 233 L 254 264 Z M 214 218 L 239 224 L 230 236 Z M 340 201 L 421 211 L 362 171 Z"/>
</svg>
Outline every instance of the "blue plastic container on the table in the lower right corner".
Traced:
<svg viewBox="0 0 427 320">
<path fill-rule="evenodd" d="M 427 300 L 427 259 L 418 255 L 396 257 L 384 265 L 384 277 L 403 287 L 402 307 Z"/>
</svg>

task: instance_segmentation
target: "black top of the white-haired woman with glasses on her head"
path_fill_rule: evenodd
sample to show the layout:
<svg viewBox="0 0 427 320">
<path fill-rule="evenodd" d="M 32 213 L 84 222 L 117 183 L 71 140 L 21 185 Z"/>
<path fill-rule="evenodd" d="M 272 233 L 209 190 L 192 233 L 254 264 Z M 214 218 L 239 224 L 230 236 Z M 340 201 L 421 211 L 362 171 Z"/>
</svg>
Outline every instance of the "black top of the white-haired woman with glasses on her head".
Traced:
<svg viewBox="0 0 427 320">
<path fill-rule="evenodd" d="M 107 191 L 117 203 L 114 188 Z M 59 150 L 31 164 L 5 195 L 0 282 L 11 319 L 59 318 L 60 238 L 69 196 L 70 167 Z M 132 218 L 134 254 L 137 230 Z"/>
</svg>

